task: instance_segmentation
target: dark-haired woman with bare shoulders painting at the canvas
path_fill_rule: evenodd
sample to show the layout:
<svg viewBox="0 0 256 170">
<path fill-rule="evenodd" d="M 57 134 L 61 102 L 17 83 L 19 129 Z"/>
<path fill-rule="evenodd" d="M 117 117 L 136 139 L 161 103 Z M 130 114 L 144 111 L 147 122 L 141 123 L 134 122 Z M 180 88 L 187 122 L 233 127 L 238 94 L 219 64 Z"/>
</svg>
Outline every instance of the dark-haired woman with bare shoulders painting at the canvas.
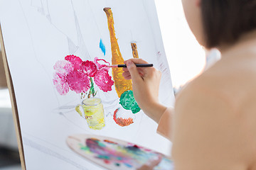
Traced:
<svg viewBox="0 0 256 170">
<path fill-rule="evenodd" d="M 173 110 L 155 98 L 161 73 L 134 66 L 145 61 L 127 60 L 123 76 L 172 140 L 176 170 L 256 170 L 256 0 L 182 2 L 198 42 L 217 47 L 222 59 L 183 88 Z"/>
</svg>

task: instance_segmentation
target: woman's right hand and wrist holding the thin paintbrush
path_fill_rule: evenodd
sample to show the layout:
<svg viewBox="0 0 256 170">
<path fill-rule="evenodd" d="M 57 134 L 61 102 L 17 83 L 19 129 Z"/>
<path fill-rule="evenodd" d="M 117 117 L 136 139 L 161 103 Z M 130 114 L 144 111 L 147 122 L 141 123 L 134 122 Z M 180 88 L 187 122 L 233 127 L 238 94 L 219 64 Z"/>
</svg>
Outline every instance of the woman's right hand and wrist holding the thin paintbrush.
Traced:
<svg viewBox="0 0 256 170">
<path fill-rule="evenodd" d="M 148 64 L 142 59 L 130 59 L 124 62 L 127 68 L 123 68 L 124 79 L 132 79 L 132 91 L 134 98 L 146 115 L 149 115 L 156 123 L 159 123 L 165 106 L 159 103 L 159 84 L 161 72 L 154 67 L 136 67 L 135 64 Z"/>
</svg>

